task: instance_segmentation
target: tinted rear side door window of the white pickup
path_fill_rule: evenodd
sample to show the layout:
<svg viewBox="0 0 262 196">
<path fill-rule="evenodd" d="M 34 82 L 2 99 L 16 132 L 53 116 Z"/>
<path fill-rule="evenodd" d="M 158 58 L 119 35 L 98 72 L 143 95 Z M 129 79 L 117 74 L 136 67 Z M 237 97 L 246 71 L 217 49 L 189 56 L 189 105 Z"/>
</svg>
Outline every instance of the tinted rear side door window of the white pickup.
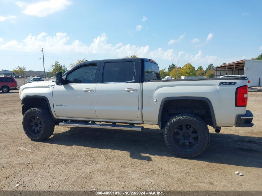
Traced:
<svg viewBox="0 0 262 196">
<path fill-rule="evenodd" d="M 135 62 L 104 63 L 102 82 L 133 82 L 135 80 Z"/>
</svg>

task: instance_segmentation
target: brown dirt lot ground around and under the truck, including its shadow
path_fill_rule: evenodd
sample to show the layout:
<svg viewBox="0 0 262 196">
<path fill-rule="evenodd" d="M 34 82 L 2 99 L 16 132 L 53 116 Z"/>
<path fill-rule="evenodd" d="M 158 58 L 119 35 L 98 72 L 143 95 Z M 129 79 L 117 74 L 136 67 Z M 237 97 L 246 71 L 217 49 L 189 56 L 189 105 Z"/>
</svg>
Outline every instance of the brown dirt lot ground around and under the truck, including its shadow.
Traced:
<svg viewBox="0 0 262 196">
<path fill-rule="evenodd" d="M 255 125 L 209 127 L 207 150 L 182 159 L 157 125 L 142 132 L 56 126 L 49 139 L 33 142 L 18 91 L 0 93 L 0 190 L 262 190 L 261 103 L 262 92 L 249 92 Z"/>
</svg>

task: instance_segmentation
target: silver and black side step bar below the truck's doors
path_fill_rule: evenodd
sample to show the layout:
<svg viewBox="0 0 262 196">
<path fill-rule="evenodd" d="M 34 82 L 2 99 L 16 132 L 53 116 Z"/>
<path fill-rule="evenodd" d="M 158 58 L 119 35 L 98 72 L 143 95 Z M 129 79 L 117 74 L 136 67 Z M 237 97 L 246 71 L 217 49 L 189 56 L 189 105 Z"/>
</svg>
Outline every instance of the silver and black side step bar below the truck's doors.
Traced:
<svg viewBox="0 0 262 196">
<path fill-rule="evenodd" d="M 107 128 L 107 129 L 122 129 L 122 130 L 134 130 L 142 131 L 144 127 L 139 127 L 135 125 L 124 125 L 124 124 L 96 124 L 94 122 L 84 123 L 84 122 L 74 122 L 66 121 L 60 122 L 60 126 L 69 126 L 69 127 L 89 127 L 89 128 Z"/>
</svg>

